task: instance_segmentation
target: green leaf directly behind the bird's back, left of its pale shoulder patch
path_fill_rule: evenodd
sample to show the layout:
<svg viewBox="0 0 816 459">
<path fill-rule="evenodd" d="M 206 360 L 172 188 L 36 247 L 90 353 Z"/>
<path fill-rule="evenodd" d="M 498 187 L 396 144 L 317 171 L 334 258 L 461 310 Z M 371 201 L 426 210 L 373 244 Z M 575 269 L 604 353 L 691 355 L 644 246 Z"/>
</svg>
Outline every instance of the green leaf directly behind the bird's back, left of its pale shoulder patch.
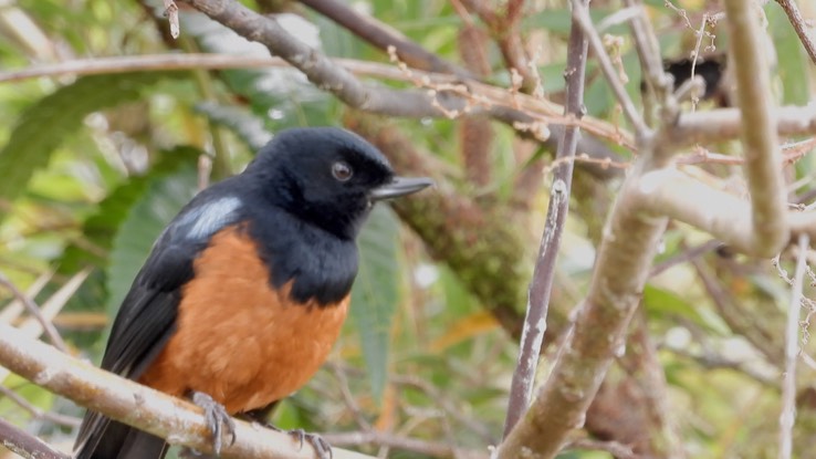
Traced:
<svg viewBox="0 0 816 459">
<path fill-rule="evenodd" d="M 106 271 L 107 310 L 112 315 L 130 289 L 156 238 L 195 196 L 197 178 L 196 168 L 190 165 L 176 174 L 151 179 L 128 210 L 113 240 Z"/>
</svg>

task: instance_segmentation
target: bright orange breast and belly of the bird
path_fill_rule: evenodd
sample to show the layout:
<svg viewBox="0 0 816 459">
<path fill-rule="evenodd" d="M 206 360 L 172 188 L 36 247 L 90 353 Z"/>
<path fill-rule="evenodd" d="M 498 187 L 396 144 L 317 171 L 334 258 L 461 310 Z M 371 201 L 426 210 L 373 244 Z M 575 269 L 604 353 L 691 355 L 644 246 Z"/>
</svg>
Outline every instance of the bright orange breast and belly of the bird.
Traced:
<svg viewBox="0 0 816 459">
<path fill-rule="evenodd" d="M 348 296 L 321 307 L 290 300 L 291 282 L 274 291 L 257 246 L 236 227 L 217 233 L 193 269 L 177 332 L 140 383 L 175 396 L 203 392 L 236 414 L 286 397 L 317 372 Z"/>
</svg>

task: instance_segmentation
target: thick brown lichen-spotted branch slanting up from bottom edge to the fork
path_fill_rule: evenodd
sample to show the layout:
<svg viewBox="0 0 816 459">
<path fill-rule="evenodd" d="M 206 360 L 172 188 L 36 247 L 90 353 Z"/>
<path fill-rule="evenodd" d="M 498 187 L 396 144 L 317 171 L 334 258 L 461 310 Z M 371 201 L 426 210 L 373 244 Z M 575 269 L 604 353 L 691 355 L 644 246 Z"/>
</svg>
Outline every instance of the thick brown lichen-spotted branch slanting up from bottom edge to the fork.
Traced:
<svg viewBox="0 0 816 459">
<path fill-rule="evenodd" d="M 649 144 L 638 146 L 642 155 L 632 176 L 648 167 L 651 157 Z M 631 198 L 634 186 L 632 177 L 624 184 L 604 231 L 589 293 L 536 400 L 499 447 L 500 458 L 555 457 L 568 434 L 583 425 L 616 348 L 623 345 L 668 222 L 640 211 Z"/>
</svg>

